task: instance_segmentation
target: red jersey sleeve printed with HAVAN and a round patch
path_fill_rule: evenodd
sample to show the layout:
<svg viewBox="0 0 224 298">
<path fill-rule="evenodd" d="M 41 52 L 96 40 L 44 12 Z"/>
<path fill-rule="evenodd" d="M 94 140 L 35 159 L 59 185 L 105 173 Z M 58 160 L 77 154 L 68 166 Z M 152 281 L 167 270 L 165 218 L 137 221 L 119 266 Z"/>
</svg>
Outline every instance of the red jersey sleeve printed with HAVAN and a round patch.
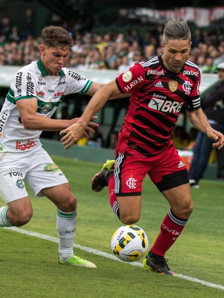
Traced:
<svg viewBox="0 0 224 298">
<path fill-rule="evenodd" d="M 126 73 L 116 78 L 117 88 L 121 93 L 131 93 L 139 89 L 145 81 L 145 71 L 142 66 L 136 63 Z"/>
</svg>

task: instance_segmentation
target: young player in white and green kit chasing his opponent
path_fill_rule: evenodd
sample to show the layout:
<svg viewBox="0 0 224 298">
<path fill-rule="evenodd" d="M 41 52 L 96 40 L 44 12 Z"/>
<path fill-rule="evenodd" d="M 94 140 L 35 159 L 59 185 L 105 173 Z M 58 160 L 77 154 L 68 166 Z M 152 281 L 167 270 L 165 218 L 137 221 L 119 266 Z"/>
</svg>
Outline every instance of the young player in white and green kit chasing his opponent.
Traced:
<svg viewBox="0 0 224 298">
<path fill-rule="evenodd" d="M 63 68 L 72 45 L 68 31 L 49 26 L 42 30 L 38 61 L 13 77 L 0 112 L 0 226 L 21 226 L 32 217 L 25 180 L 36 196 L 46 196 L 57 207 L 60 264 L 96 267 L 73 254 L 77 200 L 60 168 L 42 148 L 41 131 L 61 131 L 78 121 L 51 119 L 63 96 L 89 95 L 102 84 Z M 98 125 L 90 122 L 87 131 Z"/>
</svg>

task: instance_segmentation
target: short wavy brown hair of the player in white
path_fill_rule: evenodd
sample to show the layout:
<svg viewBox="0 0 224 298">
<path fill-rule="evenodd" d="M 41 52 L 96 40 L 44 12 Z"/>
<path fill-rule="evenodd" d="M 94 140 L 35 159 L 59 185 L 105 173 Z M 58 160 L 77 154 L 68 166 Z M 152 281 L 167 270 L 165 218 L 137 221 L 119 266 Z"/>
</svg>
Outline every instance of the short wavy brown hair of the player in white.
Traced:
<svg viewBox="0 0 224 298">
<path fill-rule="evenodd" d="M 73 46 L 72 37 L 69 32 L 62 27 L 46 26 L 41 31 L 41 44 L 47 47 Z"/>
</svg>

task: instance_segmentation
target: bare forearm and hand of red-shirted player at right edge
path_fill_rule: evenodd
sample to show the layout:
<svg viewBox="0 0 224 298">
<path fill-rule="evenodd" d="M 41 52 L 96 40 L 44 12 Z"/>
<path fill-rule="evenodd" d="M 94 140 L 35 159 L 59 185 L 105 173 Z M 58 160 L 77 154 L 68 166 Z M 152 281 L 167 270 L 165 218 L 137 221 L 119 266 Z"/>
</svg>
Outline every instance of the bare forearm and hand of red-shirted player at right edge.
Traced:
<svg viewBox="0 0 224 298">
<path fill-rule="evenodd" d="M 186 110 L 190 122 L 210 139 L 216 141 L 214 148 L 221 149 L 224 146 L 224 135 L 211 127 L 202 108 L 197 110 Z"/>
</svg>

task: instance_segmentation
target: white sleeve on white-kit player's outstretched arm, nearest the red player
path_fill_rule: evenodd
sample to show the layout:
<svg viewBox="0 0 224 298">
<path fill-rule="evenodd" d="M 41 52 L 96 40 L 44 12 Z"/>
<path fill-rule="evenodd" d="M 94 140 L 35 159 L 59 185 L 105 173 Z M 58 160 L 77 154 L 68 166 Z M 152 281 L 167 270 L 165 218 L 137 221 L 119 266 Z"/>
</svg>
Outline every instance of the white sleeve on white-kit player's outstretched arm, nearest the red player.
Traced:
<svg viewBox="0 0 224 298">
<path fill-rule="evenodd" d="M 89 80 L 85 76 L 82 76 L 72 70 L 67 70 L 67 88 L 65 91 L 65 95 L 71 93 L 86 93 L 93 81 Z"/>
</svg>

